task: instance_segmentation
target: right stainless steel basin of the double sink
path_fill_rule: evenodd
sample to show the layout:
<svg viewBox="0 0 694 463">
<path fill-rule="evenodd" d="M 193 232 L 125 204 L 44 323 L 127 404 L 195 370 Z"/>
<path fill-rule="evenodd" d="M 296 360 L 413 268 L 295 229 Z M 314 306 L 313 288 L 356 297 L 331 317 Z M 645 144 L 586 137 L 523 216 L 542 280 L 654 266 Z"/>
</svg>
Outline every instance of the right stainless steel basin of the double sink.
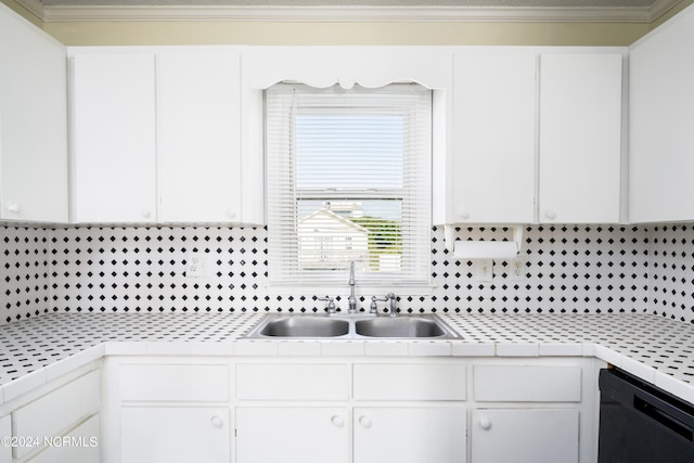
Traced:
<svg viewBox="0 0 694 463">
<path fill-rule="evenodd" d="M 369 337 L 439 337 L 446 331 L 430 318 L 382 317 L 360 320 L 355 324 L 357 334 Z"/>
</svg>

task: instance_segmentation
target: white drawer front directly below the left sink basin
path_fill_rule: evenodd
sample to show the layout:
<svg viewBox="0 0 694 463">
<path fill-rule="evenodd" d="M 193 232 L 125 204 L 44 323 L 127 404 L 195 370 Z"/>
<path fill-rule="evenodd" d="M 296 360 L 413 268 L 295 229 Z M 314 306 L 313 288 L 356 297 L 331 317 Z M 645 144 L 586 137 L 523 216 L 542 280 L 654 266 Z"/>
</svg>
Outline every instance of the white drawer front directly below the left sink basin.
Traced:
<svg viewBox="0 0 694 463">
<path fill-rule="evenodd" d="M 348 400 L 346 364 L 239 364 L 236 397 L 246 400 Z"/>
</svg>

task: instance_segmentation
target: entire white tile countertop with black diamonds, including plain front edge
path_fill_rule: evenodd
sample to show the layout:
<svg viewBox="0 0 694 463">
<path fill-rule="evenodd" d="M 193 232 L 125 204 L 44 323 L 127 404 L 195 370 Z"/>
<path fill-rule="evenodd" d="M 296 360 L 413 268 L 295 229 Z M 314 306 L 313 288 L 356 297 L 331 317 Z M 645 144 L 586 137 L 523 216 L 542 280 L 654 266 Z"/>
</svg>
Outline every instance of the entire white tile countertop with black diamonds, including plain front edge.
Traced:
<svg viewBox="0 0 694 463">
<path fill-rule="evenodd" d="M 0 326 L 0 403 L 105 355 L 596 357 L 694 403 L 694 326 L 646 313 L 439 316 L 462 339 L 244 339 L 258 313 L 54 313 Z"/>
</svg>

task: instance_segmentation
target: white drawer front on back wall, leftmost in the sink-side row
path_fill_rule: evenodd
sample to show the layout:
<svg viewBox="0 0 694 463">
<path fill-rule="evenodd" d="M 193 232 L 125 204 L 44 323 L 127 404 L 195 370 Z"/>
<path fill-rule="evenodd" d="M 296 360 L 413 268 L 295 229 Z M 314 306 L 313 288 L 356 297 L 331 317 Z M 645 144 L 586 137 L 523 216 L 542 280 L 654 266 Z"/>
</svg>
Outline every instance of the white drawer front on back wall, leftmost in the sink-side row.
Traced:
<svg viewBox="0 0 694 463">
<path fill-rule="evenodd" d="M 124 364 L 120 400 L 229 400 L 229 366 L 201 364 Z"/>
</svg>

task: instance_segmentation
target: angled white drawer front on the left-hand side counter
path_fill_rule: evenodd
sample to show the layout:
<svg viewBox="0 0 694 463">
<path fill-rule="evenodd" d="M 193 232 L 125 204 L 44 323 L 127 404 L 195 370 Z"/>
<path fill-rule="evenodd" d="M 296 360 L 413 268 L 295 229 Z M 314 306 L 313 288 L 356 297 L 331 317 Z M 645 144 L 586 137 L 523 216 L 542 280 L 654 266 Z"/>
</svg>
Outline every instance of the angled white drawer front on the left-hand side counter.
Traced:
<svg viewBox="0 0 694 463">
<path fill-rule="evenodd" d="M 62 436 L 85 417 L 97 413 L 100 398 L 99 372 L 92 371 L 12 412 L 14 435 L 37 437 L 41 442 L 43 437 Z M 20 458 L 33 448 L 14 450 L 14 456 Z"/>
</svg>

